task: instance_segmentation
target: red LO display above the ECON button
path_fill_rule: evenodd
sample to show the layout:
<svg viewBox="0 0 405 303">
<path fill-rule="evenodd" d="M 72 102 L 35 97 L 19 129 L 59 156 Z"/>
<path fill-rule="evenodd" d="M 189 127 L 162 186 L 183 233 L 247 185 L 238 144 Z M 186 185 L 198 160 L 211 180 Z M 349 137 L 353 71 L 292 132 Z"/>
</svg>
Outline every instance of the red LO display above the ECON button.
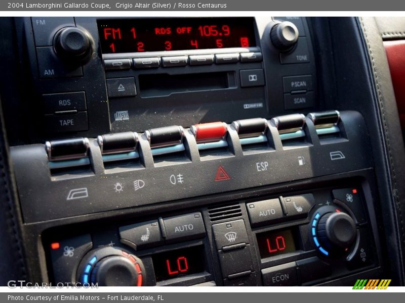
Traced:
<svg viewBox="0 0 405 303">
<path fill-rule="evenodd" d="M 297 241 L 291 229 L 263 232 L 256 237 L 262 259 L 297 250 Z"/>
</svg>

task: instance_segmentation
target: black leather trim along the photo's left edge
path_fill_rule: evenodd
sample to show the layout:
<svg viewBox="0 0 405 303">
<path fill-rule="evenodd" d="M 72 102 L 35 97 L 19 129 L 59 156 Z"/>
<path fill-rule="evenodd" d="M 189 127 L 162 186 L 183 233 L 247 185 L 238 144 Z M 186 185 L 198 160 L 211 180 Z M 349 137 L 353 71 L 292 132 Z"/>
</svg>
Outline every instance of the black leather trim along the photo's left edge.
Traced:
<svg viewBox="0 0 405 303">
<path fill-rule="evenodd" d="M 15 184 L 0 100 L 0 286 L 9 280 L 25 280 L 26 267 L 20 236 L 21 217 L 15 203 Z"/>
</svg>

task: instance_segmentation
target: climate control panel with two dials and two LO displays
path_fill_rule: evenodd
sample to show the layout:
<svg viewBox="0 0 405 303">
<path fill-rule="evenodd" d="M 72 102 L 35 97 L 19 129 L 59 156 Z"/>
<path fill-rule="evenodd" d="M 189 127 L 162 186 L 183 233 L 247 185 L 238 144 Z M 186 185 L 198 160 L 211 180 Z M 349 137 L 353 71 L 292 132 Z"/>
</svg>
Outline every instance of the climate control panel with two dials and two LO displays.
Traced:
<svg viewBox="0 0 405 303">
<path fill-rule="evenodd" d="M 377 267 L 365 196 L 355 185 L 172 212 L 70 238 L 52 232 L 44 242 L 50 278 L 102 286 L 288 286 Z"/>
</svg>

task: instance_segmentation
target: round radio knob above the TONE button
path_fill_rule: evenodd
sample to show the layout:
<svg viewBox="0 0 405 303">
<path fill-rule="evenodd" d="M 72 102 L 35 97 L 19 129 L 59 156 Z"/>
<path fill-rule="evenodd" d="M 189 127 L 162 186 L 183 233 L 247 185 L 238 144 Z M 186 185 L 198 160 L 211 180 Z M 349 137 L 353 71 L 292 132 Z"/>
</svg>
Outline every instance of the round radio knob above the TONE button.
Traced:
<svg viewBox="0 0 405 303">
<path fill-rule="evenodd" d="M 298 29 L 289 21 L 275 24 L 270 31 L 270 40 L 281 52 L 288 51 L 298 40 Z"/>
</svg>

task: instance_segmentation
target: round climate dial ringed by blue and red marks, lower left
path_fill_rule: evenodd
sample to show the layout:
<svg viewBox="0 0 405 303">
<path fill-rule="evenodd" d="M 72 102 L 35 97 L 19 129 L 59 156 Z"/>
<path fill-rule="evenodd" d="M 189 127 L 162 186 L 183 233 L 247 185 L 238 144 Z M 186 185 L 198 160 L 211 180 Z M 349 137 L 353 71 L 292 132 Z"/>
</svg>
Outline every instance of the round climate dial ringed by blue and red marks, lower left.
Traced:
<svg viewBox="0 0 405 303">
<path fill-rule="evenodd" d="M 141 286 L 145 277 L 142 261 L 119 248 L 106 246 L 91 251 L 80 263 L 78 280 L 99 286 Z"/>
</svg>

